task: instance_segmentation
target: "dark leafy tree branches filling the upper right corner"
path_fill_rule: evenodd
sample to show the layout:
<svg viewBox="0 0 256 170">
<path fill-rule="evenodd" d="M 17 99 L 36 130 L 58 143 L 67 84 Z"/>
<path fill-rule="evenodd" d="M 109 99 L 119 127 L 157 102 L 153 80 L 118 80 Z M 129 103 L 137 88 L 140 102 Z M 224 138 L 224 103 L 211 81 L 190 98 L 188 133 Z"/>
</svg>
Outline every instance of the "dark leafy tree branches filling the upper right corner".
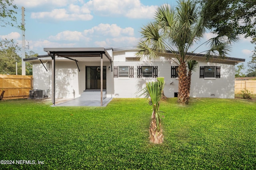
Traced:
<svg viewBox="0 0 256 170">
<path fill-rule="evenodd" d="M 256 0 L 198 0 L 207 27 L 218 35 L 256 37 Z"/>
</svg>

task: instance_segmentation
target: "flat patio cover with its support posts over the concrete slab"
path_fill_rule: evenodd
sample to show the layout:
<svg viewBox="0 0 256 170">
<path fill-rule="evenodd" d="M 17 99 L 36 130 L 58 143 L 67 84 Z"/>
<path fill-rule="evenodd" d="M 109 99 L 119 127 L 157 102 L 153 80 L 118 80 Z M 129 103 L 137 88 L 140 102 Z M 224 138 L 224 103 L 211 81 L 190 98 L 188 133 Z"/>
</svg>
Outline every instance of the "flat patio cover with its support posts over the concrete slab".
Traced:
<svg viewBox="0 0 256 170">
<path fill-rule="evenodd" d="M 100 91 L 101 99 L 100 105 L 102 106 L 102 92 L 103 92 L 103 60 L 110 61 L 112 69 L 112 57 L 108 54 L 105 48 L 44 48 L 44 51 L 52 57 L 52 103 L 55 105 L 55 61 L 56 57 L 64 57 L 75 61 L 98 61 L 100 57 Z M 77 64 L 78 66 L 78 64 Z M 78 70 L 80 71 L 79 67 Z"/>
</svg>

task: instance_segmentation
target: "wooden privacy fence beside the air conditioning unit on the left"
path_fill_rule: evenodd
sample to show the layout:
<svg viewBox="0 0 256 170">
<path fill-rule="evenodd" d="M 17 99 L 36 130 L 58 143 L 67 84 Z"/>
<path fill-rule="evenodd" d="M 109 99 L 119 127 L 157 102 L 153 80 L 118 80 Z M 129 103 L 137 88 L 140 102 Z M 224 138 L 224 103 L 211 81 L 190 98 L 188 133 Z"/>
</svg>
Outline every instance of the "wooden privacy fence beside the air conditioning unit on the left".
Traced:
<svg viewBox="0 0 256 170">
<path fill-rule="evenodd" d="M 33 76 L 0 74 L 0 93 L 4 90 L 4 100 L 28 98 L 32 90 Z"/>
</svg>

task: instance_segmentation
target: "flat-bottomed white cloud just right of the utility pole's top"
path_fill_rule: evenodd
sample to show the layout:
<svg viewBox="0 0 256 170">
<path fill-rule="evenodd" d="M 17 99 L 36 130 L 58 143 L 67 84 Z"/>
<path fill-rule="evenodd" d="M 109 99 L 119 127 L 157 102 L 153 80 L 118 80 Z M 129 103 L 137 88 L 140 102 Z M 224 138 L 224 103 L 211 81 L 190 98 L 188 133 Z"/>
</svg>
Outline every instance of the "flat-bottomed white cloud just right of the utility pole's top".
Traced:
<svg viewBox="0 0 256 170">
<path fill-rule="evenodd" d="M 32 12 L 31 18 L 33 19 L 53 19 L 62 21 L 88 21 L 92 20 L 93 16 L 90 14 L 90 10 L 85 6 L 78 6 L 71 4 L 67 9 L 54 9 L 51 12 Z"/>
</svg>

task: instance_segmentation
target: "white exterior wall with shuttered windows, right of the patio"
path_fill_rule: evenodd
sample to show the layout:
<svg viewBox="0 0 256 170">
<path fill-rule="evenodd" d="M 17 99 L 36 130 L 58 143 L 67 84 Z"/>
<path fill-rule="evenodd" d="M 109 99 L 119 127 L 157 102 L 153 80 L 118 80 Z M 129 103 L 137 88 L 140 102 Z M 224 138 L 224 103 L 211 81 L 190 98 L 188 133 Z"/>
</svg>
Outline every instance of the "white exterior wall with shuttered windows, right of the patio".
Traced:
<svg viewBox="0 0 256 170">
<path fill-rule="evenodd" d="M 114 53 L 114 66 L 133 66 L 133 78 L 114 78 L 114 98 L 137 98 L 141 94 L 146 82 L 156 81 L 156 78 L 139 78 L 138 66 L 157 66 L 158 77 L 165 78 L 164 95 L 172 98 L 178 92 L 178 78 L 171 77 L 171 66 L 176 66 L 172 61 L 160 57 L 151 62 L 139 61 L 132 52 Z M 199 66 L 192 72 L 190 96 L 193 98 L 234 98 L 234 63 L 199 61 Z M 220 78 L 200 78 L 200 66 L 219 66 Z M 143 97 L 143 96 L 142 96 Z"/>
</svg>

